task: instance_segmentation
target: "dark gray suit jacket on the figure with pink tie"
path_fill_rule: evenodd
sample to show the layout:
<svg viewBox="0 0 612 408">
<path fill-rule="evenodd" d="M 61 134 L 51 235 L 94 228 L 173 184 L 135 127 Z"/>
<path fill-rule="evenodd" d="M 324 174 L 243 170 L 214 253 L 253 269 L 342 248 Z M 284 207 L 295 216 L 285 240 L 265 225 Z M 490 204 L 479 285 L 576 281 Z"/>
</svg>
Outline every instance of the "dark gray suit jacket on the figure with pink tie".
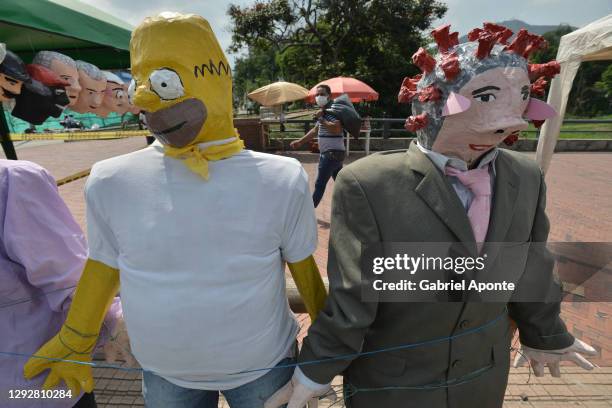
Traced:
<svg viewBox="0 0 612 408">
<path fill-rule="evenodd" d="M 507 150 L 500 151 L 495 166 L 486 241 L 545 242 L 549 223 L 539 168 Z M 330 295 L 308 331 L 299 362 L 453 336 L 501 318 L 486 330 L 433 345 L 301 366 L 318 383 L 343 373 L 348 407 L 501 407 L 509 369 L 509 318 L 516 321 L 525 345 L 557 349 L 572 344 L 559 319 L 559 303 L 362 301 L 362 285 L 368 282 L 361 278 L 361 250 L 376 242 L 461 242 L 466 254 L 477 256 L 465 209 L 446 177 L 414 143 L 407 152 L 358 160 L 338 175 Z M 491 268 L 509 261 L 499 254 L 493 258 Z M 514 265 L 521 268 L 520 282 L 538 276 L 551 285 L 553 266 L 543 246 L 530 249 Z M 453 386 L 434 385 L 449 383 Z M 351 390 L 359 391 L 350 396 Z"/>
</svg>

